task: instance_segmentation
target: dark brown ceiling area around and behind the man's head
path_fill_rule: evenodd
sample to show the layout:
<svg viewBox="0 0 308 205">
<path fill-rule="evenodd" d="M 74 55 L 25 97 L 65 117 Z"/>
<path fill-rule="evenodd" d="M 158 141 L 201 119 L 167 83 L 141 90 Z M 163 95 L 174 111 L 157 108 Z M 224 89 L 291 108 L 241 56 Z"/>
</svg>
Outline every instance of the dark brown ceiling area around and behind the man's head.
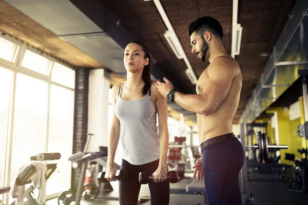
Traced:
<svg viewBox="0 0 308 205">
<path fill-rule="evenodd" d="M 152 1 L 100 1 L 121 19 L 121 24 L 134 38 L 140 39 L 148 45 L 151 53 L 157 59 L 157 64 L 175 85 L 184 93 L 196 93 L 195 85 L 190 83 L 185 74 L 187 67 L 184 61 L 177 59 L 163 36 L 166 26 Z M 223 44 L 226 51 L 230 53 L 232 1 L 161 0 L 160 2 L 197 77 L 208 66 L 208 62 L 201 62 L 194 54 L 191 54 L 187 28 L 193 20 L 205 15 L 218 19 L 224 32 Z M 243 87 L 234 124 L 238 123 L 266 65 L 268 54 L 272 52 L 288 19 L 288 14 L 293 10 L 296 2 L 296 0 L 239 0 L 238 23 L 243 27 L 243 32 L 241 52 L 236 56 L 236 60 L 242 70 Z"/>
</svg>

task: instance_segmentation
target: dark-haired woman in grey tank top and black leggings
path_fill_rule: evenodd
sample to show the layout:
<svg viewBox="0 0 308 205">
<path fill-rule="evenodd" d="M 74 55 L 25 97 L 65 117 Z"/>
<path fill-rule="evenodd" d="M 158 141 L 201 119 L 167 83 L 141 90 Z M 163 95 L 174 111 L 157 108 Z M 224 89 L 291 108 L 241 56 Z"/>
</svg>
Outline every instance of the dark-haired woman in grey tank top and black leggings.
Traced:
<svg viewBox="0 0 308 205">
<path fill-rule="evenodd" d="M 119 181 L 120 204 L 137 204 L 141 184 L 139 173 L 147 171 L 151 204 L 169 204 L 167 178 L 168 128 L 167 102 L 151 81 L 151 56 L 140 42 L 128 44 L 124 50 L 127 80 L 112 87 L 113 121 L 109 136 L 105 178 L 115 181 L 114 155 L 122 139 L 121 169 L 128 179 Z M 159 135 L 156 128 L 158 114 Z"/>
</svg>

